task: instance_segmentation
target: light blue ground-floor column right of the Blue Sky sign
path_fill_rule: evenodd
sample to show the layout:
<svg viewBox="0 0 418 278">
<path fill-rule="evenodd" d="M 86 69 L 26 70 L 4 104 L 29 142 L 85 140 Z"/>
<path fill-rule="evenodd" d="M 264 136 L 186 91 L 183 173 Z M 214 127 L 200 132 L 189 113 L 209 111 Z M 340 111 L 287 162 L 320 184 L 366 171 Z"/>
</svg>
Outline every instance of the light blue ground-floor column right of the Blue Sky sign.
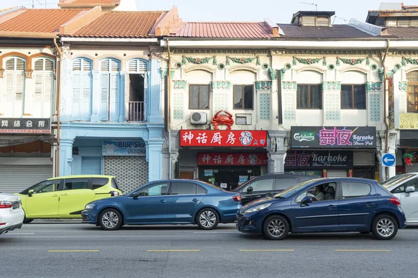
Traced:
<svg viewBox="0 0 418 278">
<path fill-rule="evenodd" d="M 163 139 L 146 140 L 146 159 L 148 161 L 148 181 L 162 178 L 162 144 Z"/>
</svg>

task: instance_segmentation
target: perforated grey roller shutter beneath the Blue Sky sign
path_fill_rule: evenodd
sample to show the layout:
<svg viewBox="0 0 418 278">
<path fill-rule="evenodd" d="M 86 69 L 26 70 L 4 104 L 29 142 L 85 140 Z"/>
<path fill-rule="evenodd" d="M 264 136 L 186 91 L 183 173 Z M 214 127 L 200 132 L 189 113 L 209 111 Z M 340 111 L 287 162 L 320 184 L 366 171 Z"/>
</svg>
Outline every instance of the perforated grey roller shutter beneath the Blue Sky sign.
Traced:
<svg viewBox="0 0 418 278">
<path fill-rule="evenodd" d="M 145 156 L 104 156 L 104 174 L 115 176 L 124 193 L 148 183 Z"/>
</svg>

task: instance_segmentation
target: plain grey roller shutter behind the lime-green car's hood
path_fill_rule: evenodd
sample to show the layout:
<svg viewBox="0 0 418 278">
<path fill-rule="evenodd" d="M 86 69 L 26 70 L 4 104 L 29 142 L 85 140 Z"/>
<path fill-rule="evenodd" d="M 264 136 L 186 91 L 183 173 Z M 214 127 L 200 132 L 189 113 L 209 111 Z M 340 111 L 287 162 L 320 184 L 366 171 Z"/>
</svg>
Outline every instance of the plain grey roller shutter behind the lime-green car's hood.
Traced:
<svg viewBox="0 0 418 278">
<path fill-rule="evenodd" d="M 20 193 L 52 178 L 52 165 L 0 165 L 0 192 Z"/>
</svg>

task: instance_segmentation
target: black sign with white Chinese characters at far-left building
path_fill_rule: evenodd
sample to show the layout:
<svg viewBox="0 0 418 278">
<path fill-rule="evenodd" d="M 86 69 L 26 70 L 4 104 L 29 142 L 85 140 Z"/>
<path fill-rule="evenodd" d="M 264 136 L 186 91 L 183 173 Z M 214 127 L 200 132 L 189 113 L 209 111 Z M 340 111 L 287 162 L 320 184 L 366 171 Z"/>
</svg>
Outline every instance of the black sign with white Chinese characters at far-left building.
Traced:
<svg viewBox="0 0 418 278">
<path fill-rule="evenodd" d="M 0 133 L 51 133 L 51 120 L 33 118 L 0 118 Z"/>
</svg>

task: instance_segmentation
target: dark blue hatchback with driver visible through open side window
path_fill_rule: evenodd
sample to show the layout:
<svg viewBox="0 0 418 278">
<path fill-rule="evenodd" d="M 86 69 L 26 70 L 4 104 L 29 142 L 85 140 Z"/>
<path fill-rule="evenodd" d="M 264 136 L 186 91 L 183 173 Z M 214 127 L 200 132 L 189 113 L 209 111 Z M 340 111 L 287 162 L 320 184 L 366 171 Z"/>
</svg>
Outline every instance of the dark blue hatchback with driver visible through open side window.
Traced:
<svg viewBox="0 0 418 278">
<path fill-rule="evenodd" d="M 399 199 L 376 181 L 313 179 L 274 197 L 250 202 L 237 214 L 237 229 L 281 240 L 291 233 L 359 231 L 380 240 L 405 227 Z"/>
</svg>

